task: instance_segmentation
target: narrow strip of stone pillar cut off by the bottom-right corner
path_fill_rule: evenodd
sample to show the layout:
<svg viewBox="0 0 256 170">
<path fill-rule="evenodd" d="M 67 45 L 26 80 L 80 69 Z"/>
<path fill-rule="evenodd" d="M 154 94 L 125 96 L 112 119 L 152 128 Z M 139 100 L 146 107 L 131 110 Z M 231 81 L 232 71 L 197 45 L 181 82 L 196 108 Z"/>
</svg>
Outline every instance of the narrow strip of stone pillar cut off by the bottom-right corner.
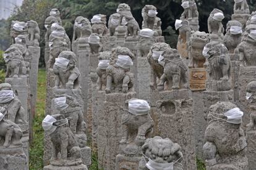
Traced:
<svg viewBox="0 0 256 170">
<path fill-rule="evenodd" d="M 250 170 L 256 168 L 256 130 L 251 130 L 246 132 L 247 138 L 247 152 L 246 156 L 248 158 Z"/>
</svg>

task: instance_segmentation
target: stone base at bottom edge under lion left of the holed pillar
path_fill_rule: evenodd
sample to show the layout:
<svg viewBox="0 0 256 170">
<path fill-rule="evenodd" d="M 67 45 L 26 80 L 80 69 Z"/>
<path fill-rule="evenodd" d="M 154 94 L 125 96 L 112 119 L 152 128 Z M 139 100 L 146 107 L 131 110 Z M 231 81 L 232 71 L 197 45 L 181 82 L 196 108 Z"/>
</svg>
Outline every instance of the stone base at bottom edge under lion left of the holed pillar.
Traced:
<svg viewBox="0 0 256 170">
<path fill-rule="evenodd" d="M 116 156 L 115 170 L 138 169 L 140 159 L 142 159 L 142 157 L 128 157 L 128 156 L 118 154 Z"/>
</svg>

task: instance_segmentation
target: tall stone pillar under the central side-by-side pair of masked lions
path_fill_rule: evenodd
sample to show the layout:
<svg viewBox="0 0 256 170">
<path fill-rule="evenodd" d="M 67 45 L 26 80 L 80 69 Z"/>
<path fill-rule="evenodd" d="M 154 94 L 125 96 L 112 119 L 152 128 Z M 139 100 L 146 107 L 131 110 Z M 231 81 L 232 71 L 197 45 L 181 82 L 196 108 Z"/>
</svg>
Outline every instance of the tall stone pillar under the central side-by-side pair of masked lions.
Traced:
<svg viewBox="0 0 256 170">
<path fill-rule="evenodd" d="M 135 98 L 135 92 L 105 95 L 103 111 L 98 112 L 98 163 L 105 170 L 115 168 L 119 141 L 122 137 L 121 117 L 124 101 Z"/>
</svg>

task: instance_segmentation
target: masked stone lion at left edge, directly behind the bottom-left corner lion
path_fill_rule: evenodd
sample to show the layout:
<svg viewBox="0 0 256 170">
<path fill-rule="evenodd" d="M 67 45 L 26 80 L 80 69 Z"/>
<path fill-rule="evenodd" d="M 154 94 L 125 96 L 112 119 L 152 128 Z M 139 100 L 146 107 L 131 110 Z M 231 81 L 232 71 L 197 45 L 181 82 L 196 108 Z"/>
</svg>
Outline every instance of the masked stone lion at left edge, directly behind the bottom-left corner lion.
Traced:
<svg viewBox="0 0 256 170">
<path fill-rule="evenodd" d="M 6 109 L 6 119 L 15 124 L 27 124 L 26 111 L 9 83 L 0 84 L 0 107 Z"/>
</svg>

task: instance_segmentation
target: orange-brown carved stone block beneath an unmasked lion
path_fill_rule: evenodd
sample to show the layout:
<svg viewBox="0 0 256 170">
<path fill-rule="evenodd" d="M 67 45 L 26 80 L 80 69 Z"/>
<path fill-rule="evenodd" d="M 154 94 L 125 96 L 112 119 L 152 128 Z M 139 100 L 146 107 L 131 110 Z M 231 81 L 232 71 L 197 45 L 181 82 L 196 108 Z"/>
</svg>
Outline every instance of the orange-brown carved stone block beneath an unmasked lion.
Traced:
<svg viewBox="0 0 256 170">
<path fill-rule="evenodd" d="M 205 90 L 206 71 L 204 68 L 189 69 L 189 88 L 192 91 Z"/>
</svg>

